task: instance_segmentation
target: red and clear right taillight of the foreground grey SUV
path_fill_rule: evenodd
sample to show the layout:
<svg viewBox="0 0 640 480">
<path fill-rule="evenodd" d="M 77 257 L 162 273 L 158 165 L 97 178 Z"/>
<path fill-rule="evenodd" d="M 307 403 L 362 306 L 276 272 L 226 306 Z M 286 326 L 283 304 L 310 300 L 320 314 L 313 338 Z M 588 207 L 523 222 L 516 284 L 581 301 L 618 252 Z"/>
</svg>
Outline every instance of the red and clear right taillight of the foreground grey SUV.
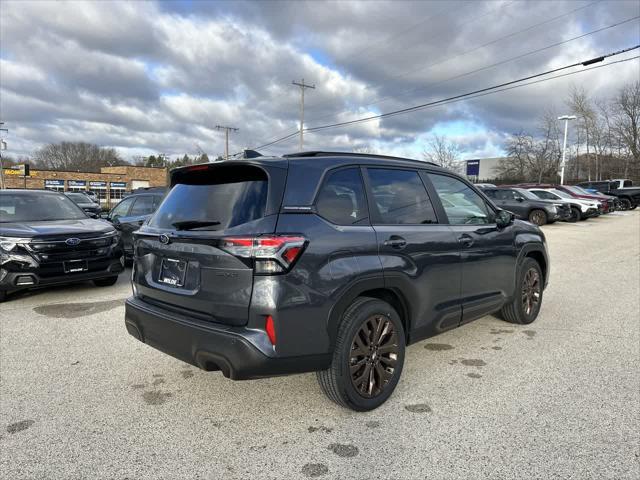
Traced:
<svg viewBox="0 0 640 480">
<path fill-rule="evenodd" d="M 253 258 L 256 273 L 287 271 L 304 250 L 307 239 L 297 235 L 265 235 L 261 237 L 226 237 L 220 248 L 232 255 Z"/>
</svg>

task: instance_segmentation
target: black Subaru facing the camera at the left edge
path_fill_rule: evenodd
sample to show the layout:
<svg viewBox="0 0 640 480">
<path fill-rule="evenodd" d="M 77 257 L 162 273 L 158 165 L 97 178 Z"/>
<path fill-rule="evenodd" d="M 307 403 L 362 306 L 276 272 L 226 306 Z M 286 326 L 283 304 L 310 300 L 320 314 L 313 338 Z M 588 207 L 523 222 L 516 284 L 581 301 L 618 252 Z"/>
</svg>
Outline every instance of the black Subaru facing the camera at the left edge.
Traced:
<svg viewBox="0 0 640 480">
<path fill-rule="evenodd" d="M 113 285 L 124 269 L 120 238 L 62 193 L 0 190 L 0 301 L 27 288 L 93 280 Z"/>
</svg>

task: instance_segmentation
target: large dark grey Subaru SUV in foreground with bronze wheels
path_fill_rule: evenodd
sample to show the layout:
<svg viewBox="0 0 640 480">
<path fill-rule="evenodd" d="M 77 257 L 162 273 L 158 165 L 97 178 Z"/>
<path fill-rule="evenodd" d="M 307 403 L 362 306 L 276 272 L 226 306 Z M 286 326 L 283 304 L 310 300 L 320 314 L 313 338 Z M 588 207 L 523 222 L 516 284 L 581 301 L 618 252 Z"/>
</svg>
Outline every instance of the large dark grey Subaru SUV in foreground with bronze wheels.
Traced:
<svg viewBox="0 0 640 480">
<path fill-rule="evenodd" d="M 382 404 L 405 346 L 500 312 L 533 322 L 543 233 L 434 164 L 309 152 L 187 166 L 136 233 L 131 335 L 239 380 L 317 371 Z"/>
</svg>

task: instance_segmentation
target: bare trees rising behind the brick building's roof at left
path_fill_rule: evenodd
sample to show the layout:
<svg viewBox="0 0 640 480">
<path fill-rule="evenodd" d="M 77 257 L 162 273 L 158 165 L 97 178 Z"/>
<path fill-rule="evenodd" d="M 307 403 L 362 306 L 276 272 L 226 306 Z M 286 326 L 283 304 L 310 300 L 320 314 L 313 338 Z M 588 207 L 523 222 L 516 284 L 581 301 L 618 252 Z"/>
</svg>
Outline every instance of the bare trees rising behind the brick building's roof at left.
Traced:
<svg viewBox="0 0 640 480">
<path fill-rule="evenodd" d="M 101 167 L 128 165 L 113 148 L 84 142 L 50 143 L 38 150 L 34 163 L 40 168 L 99 172 Z"/>
</svg>

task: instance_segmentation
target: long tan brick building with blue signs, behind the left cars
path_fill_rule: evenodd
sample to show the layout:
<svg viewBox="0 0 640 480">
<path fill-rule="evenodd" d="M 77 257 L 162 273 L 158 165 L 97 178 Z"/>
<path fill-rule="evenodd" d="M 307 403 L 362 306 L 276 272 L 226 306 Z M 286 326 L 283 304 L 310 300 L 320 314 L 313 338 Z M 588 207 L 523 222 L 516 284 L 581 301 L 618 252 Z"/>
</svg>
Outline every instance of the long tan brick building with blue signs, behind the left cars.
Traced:
<svg viewBox="0 0 640 480">
<path fill-rule="evenodd" d="M 18 167 L 8 167 L 3 169 L 3 173 L 6 188 L 47 189 L 58 192 L 91 190 L 98 196 L 103 208 L 111 208 L 128 192 L 137 188 L 167 185 L 165 167 L 102 167 L 99 173 L 30 169 L 28 176 L 24 176 L 23 170 Z"/>
</svg>

